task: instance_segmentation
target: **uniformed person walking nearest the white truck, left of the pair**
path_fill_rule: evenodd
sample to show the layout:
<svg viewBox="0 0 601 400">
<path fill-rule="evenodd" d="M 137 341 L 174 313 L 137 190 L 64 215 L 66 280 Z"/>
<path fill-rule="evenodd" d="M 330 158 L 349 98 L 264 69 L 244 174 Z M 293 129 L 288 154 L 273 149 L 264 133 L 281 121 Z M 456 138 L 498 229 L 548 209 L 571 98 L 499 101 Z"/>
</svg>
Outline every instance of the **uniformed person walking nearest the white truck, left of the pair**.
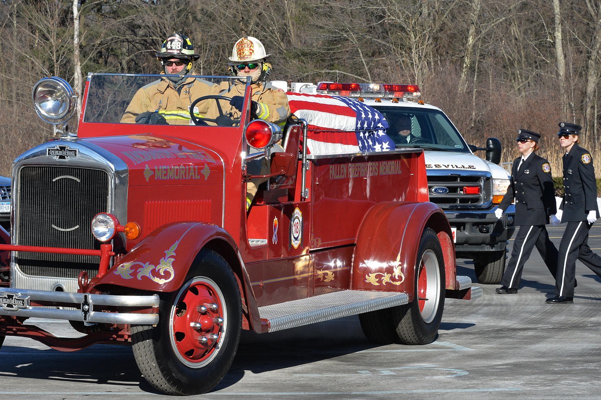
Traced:
<svg viewBox="0 0 601 400">
<path fill-rule="evenodd" d="M 549 161 L 535 153 L 538 150 L 540 134 L 525 129 L 517 131 L 517 149 L 522 154 L 513 161 L 511 184 L 503 196 L 501 204 L 495 210 L 501 218 L 509 204 L 516 201 L 514 221 L 519 225 L 516 239 L 511 250 L 511 259 L 503 278 L 502 286 L 496 289 L 498 294 L 516 294 L 522 278 L 523 266 L 536 246 L 545 261 L 551 275 L 557 269 L 557 248 L 545 227 L 549 216 L 556 210 L 553 179 Z"/>
</svg>

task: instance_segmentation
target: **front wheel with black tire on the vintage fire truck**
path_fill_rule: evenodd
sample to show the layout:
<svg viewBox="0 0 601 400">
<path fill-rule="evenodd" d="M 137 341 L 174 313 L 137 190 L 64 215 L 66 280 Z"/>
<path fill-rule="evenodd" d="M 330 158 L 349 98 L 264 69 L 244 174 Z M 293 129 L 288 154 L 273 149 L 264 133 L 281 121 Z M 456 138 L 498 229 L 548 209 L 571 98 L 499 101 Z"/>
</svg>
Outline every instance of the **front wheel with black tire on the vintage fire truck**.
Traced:
<svg viewBox="0 0 601 400">
<path fill-rule="evenodd" d="M 159 294 L 159 324 L 132 326 L 140 372 L 168 395 L 213 389 L 230 369 L 240 341 L 242 304 L 231 267 L 212 250 L 198 260 L 178 292 Z"/>
</svg>

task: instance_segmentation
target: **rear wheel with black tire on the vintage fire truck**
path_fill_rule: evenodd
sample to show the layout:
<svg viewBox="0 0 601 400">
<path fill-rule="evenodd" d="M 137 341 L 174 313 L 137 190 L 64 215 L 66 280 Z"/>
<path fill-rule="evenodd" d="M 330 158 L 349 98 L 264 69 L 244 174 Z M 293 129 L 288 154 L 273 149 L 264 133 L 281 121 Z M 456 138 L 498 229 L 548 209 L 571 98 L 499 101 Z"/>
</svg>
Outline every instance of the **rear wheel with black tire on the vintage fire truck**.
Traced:
<svg viewBox="0 0 601 400">
<path fill-rule="evenodd" d="M 392 320 L 402 344 L 435 341 L 445 306 L 445 261 L 436 232 L 426 228 L 419 239 L 413 301 L 392 308 Z"/>
</svg>

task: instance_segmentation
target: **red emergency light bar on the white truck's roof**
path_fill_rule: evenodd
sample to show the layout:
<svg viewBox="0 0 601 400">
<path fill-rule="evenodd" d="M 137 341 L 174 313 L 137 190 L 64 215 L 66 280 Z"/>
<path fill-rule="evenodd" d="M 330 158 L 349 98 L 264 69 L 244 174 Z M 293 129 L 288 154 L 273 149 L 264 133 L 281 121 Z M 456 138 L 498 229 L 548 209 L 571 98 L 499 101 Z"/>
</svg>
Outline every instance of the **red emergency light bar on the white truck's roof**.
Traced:
<svg viewBox="0 0 601 400">
<path fill-rule="evenodd" d="M 364 98 L 399 98 L 418 102 L 421 97 L 417 85 L 394 85 L 390 83 L 317 83 L 318 94 Z"/>
</svg>

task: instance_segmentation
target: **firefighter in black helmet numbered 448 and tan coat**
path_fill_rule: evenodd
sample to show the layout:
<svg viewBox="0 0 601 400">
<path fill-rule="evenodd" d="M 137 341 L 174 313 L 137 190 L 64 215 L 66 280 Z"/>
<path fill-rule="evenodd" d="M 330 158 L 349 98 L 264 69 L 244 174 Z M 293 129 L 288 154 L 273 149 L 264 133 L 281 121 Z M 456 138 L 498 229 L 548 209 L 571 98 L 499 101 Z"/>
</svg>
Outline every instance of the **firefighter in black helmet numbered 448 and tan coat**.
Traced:
<svg viewBox="0 0 601 400">
<path fill-rule="evenodd" d="M 189 75 L 194 74 L 193 63 L 199 55 L 194 53 L 192 41 L 186 35 L 174 32 L 163 41 L 156 58 L 165 75 L 133 96 L 121 122 L 127 124 L 194 125 L 190 119 L 192 101 L 219 93 L 219 85 Z M 194 107 L 198 117 L 205 116 L 212 103 L 203 101 Z"/>
</svg>

